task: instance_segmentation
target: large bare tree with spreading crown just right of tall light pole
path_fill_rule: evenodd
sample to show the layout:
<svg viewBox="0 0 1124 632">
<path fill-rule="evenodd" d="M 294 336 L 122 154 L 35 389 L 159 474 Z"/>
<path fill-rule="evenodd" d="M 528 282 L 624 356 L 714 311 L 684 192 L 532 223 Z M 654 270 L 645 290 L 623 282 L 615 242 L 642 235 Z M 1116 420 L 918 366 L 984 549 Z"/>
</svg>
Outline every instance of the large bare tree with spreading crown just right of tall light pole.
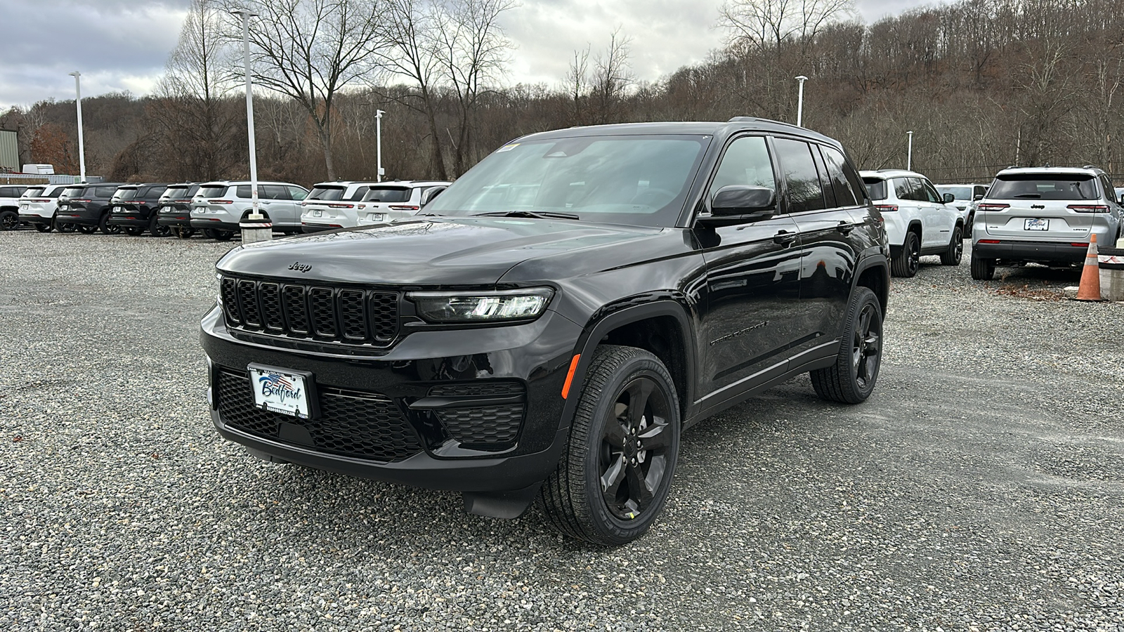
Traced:
<svg viewBox="0 0 1124 632">
<path fill-rule="evenodd" d="M 386 46 L 375 0 L 226 0 L 260 16 L 250 29 L 254 80 L 296 100 L 308 112 L 328 179 L 333 101 L 371 72 Z M 233 22 L 230 26 L 235 26 Z M 241 34 L 232 28 L 232 35 Z"/>
</svg>

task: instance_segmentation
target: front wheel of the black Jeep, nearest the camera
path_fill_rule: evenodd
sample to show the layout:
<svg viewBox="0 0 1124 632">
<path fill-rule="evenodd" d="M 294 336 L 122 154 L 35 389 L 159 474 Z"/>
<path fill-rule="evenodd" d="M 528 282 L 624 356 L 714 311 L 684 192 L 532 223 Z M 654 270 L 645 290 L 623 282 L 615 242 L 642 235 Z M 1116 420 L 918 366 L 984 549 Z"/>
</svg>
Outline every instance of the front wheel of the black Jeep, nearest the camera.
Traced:
<svg viewBox="0 0 1124 632">
<path fill-rule="evenodd" d="M 601 345 L 558 468 L 538 505 L 562 533 L 595 544 L 640 538 L 663 508 L 679 455 L 679 398 L 652 353 Z"/>
</svg>

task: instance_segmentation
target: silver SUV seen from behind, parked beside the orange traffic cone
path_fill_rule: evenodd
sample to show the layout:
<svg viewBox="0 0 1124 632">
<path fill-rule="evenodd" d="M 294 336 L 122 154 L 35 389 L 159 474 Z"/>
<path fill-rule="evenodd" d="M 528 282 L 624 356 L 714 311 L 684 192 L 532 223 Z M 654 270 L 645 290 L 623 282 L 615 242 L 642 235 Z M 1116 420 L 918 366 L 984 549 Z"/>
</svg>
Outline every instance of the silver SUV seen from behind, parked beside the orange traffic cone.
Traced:
<svg viewBox="0 0 1124 632">
<path fill-rule="evenodd" d="M 976 209 L 972 279 L 992 279 L 996 265 L 1080 264 L 1090 235 L 1116 243 L 1121 214 L 1112 181 L 1094 166 L 1005 169 Z"/>
</svg>

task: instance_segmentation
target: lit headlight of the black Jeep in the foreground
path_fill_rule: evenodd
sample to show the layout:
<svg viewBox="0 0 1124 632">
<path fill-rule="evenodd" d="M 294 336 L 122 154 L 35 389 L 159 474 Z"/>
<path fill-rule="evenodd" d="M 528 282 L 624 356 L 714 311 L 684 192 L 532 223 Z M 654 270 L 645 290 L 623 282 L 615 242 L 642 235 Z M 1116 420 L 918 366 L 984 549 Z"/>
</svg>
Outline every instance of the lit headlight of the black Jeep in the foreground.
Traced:
<svg viewBox="0 0 1124 632">
<path fill-rule="evenodd" d="M 554 296 L 551 288 L 482 292 L 409 292 L 418 315 L 430 323 L 489 323 L 537 318 Z"/>
</svg>

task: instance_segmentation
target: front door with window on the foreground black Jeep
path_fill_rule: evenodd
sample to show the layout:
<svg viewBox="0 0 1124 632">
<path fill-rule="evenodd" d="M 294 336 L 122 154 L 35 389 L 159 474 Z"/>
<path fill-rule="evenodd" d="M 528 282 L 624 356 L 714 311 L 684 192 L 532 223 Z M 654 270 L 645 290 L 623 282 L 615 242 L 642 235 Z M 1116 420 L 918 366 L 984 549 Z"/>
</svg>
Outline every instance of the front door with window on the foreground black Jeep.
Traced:
<svg viewBox="0 0 1124 632">
<path fill-rule="evenodd" d="M 763 136 L 731 142 L 708 202 L 728 184 L 778 191 Z M 779 211 L 780 196 L 776 199 Z M 698 234 L 707 273 L 699 386 L 710 405 L 783 372 L 787 350 L 800 335 L 792 323 L 800 295 L 800 245 L 796 223 L 787 215 Z"/>
</svg>

